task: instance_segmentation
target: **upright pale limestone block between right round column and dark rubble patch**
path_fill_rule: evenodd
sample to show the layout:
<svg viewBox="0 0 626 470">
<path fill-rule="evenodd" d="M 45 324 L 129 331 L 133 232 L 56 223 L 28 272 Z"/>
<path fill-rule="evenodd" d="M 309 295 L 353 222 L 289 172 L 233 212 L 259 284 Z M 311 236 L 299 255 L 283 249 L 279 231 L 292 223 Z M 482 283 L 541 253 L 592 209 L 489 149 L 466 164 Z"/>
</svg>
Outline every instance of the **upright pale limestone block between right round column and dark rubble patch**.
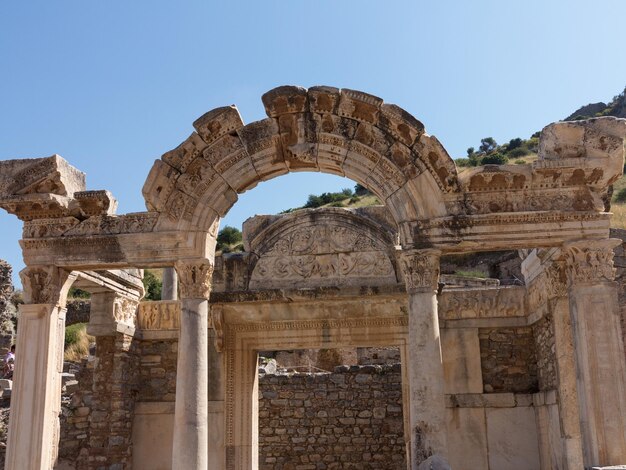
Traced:
<svg viewBox="0 0 626 470">
<path fill-rule="evenodd" d="M 480 345 L 477 328 L 441 330 L 445 393 L 481 393 Z"/>
</svg>

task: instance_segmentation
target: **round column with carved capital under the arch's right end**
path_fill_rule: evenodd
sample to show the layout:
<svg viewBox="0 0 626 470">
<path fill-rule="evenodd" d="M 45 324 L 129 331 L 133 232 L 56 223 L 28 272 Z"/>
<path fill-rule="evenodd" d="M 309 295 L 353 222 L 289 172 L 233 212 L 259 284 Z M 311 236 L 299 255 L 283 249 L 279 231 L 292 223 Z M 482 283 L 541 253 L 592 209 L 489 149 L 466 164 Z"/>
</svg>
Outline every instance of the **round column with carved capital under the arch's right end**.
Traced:
<svg viewBox="0 0 626 470">
<path fill-rule="evenodd" d="M 449 468 L 443 361 L 437 313 L 438 250 L 404 250 L 400 266 L 409 294 L 409 339 L 404 366 L 409 379 L 409 459 L 417 470 L 432 457 Z"/>
</svg>

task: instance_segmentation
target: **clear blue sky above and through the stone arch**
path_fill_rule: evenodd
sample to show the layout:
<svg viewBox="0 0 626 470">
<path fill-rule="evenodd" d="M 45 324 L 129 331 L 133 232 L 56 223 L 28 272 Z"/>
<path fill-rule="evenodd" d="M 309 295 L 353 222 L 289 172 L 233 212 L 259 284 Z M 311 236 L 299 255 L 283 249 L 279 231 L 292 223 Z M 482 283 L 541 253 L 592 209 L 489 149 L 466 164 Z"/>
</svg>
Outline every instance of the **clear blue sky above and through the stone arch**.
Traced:
<svg viewBox="0 0 626 470">
<path fill-rule="evenodd" d="M 624 0 L 6 1 L 0 159 L 58 153 L 144 210 L 155 159 L 206 111 L 264 117 L 278 85 L 354 88 L 420 119 L 453 157 L 528 137 L 626 85 Z M 351 186 L 304 173 L 259 185 L 224 224 Z M 23 267 L 0 211 L 0 258 Z"/>
</svg>

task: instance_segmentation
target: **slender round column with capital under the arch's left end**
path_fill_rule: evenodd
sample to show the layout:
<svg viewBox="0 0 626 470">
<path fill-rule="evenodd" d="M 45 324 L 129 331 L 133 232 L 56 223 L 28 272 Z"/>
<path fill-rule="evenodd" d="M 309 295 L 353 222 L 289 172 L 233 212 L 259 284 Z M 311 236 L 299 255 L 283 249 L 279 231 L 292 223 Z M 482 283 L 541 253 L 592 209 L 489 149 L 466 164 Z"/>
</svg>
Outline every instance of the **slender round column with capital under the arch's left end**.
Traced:
<svg viewBox="0 0 626 470">
<path fill-rule="evenodd" d="M 178 338 L 172 470 L 208 467 L 208 298 L 213 265 L 179 262 L 182 310 Z"/>
</svg>

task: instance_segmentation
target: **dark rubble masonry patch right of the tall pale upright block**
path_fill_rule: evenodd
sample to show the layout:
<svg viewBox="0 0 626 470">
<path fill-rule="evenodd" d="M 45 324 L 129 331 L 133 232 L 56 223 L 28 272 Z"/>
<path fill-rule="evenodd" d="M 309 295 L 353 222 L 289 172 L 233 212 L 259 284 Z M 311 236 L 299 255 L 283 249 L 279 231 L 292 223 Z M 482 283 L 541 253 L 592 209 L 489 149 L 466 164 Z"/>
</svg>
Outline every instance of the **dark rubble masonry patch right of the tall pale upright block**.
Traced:
<svg viewBox="0 0 626 470">
<path fill-rule="evenodd" d="M 485 392 L 534 393 L 538 390 L 531 327 L 481 328 L 478 338 Z"/>
</svg>

